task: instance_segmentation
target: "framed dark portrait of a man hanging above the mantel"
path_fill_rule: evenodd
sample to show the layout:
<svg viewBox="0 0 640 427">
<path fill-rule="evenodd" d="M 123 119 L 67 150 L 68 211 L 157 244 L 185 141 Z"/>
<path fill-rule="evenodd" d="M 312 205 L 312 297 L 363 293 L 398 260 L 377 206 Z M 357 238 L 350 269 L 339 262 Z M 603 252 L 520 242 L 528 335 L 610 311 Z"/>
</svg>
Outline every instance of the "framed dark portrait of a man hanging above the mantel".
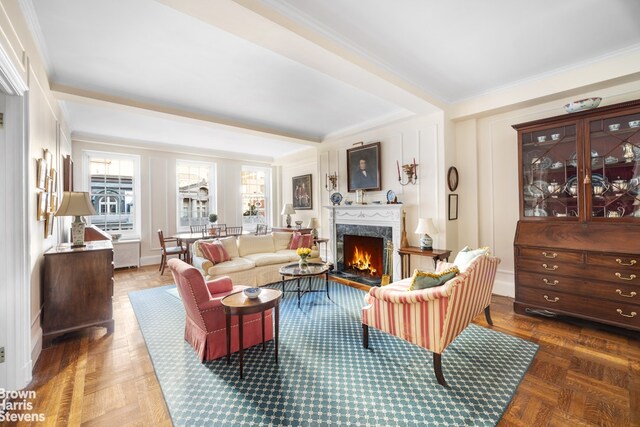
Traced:
<svg viewBox="0 0 640 427">
<path fill-rule="evenodd" d="M 347 150 L 347 190 L 380 191 L 380 143 L 361 145 Z"/>
</svg>

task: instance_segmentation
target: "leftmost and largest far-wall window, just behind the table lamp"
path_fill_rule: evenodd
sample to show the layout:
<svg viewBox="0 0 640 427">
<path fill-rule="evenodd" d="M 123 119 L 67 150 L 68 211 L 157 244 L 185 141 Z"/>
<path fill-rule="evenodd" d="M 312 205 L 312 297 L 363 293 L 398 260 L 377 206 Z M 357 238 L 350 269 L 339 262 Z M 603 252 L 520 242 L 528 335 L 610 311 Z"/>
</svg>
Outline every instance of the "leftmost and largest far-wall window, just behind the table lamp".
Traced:
<svg viewBox="0 0 640 427">
<path fill-rule="evenodd" d="M 109 233 L 139 235 L 140 158 L 87 151 L 84 159 L 91 203 L 97 212 L 91 224 Z"/>
</svg>

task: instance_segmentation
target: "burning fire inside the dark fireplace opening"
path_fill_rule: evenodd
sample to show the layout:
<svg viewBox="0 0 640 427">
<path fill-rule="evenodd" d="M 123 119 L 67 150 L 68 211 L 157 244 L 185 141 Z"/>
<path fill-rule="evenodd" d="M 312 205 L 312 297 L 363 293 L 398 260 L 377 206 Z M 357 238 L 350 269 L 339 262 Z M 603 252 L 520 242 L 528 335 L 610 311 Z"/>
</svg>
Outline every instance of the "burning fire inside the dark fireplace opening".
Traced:
<svg viewBox="0 0 640 427">
<path fill-rule="evenodd" d="M 344 236 L 343 270 L 358 276 L 382 277 L 384 239 L 370 236 Z"/>
</svg>

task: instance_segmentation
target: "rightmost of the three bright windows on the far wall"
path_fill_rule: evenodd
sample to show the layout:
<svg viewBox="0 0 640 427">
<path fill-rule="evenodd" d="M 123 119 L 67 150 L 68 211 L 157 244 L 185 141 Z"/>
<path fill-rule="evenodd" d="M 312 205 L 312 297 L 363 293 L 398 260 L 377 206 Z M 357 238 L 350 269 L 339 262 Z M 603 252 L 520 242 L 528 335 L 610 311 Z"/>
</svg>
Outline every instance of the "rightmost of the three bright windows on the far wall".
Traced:
<svg viewBox="0 0 640 427">
<path fill-rule="evenodd" d="M 268 224 L 270 209 L 271 170 L 243 166 L 240 175 L 240 192 L 242 199 L 242 227 L 255 231 L 257 224 Z"/>
</svg>

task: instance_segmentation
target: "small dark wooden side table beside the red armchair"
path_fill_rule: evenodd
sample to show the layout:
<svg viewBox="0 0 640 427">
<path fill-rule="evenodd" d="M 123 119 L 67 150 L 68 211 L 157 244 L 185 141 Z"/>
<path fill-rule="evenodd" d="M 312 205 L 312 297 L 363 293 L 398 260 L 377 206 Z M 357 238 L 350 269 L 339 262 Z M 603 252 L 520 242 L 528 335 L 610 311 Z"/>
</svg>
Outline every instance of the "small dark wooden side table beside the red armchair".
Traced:
<svg viewBox="0 0 640 427">
<path fill-rule="evenodd" d="M 238 342 L 240 343 L 240 378 L 242 378 L 242 370 L 244 367 L 244 340 L 243 340 L 243 321 L 242 316 L 245 314 L 262 313 L 262 351 L 265 350 L 264 341 L 264 317 L 265 311 L 273 308 L 274 331 L 273 343 L 275 344 L 275 362 L 278 363 L 278 333 L 280 323 L 279 304 L 282 299 L 282 292 L 278 289 L 262 288 L 262 292 L 257 298 L 248 298 L 244 292 L 236 292 L 222 298 L 222 308 L 227 317 L 227 365 L 231 363 L 231 316 L 238 316 Z"/>
</svg>

